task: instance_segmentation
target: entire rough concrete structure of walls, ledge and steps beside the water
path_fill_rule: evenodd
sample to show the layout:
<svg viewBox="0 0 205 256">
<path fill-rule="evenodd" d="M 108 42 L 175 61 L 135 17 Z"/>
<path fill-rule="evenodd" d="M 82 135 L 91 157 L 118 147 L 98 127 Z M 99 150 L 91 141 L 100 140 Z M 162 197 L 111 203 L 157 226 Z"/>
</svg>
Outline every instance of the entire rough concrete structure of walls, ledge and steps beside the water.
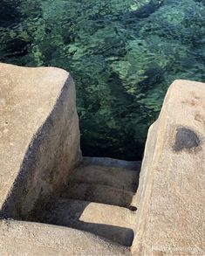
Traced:
<svg viewBox="0 0 205 256">
<path fill-rule="evenodd" d="M 140 163 L 80 160 L 69 73 L 0 64 L 0 217 L 54 224 L 0 220 L 1 256 L 205 255 L 205 84 L 170 86 L 137 192 Z"/>
</svg>

